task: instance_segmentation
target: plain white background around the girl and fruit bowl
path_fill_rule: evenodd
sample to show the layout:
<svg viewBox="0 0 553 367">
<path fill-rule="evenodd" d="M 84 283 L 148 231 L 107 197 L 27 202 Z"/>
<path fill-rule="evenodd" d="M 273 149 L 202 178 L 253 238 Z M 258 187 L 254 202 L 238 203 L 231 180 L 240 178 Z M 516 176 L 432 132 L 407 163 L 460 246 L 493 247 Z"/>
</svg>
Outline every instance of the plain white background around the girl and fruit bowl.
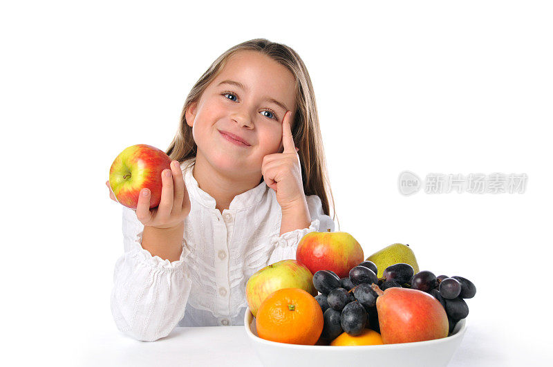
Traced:
<svg viewBox="0 0 553 367">
<path fill-rule="evenodd" d="M 409 243 L 422 269 L 474 281 L 461 346 L 471 360 L 545 364 L 550 3 L 199 3 L 0 6 L 3 349 L 75 365 L 88 335 L 118 332 L 111 162 L 133 144 L 167 149 L 214 59 L 265 37 L 297 50 L 310 72 L 340 229 L 366 256 Z M 524 194 L 406 197 L 404 170 L 528 180 Z"/>
</svg>

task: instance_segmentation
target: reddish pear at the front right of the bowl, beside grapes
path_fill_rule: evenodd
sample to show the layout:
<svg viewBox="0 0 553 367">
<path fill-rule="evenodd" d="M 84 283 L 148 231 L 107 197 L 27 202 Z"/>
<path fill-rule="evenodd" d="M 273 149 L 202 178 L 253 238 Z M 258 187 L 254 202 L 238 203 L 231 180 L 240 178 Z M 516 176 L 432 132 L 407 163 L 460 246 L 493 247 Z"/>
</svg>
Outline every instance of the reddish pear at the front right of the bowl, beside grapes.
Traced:
<svg viewBox="0 0 553 367">
<path fill-rule="evenodd" d="M 422 290 L 388 288 L 373 284 L 380 335 L 384 344 L 410 343 L 447 337 L 449 323 L 444 307 Z"/>
</svg>

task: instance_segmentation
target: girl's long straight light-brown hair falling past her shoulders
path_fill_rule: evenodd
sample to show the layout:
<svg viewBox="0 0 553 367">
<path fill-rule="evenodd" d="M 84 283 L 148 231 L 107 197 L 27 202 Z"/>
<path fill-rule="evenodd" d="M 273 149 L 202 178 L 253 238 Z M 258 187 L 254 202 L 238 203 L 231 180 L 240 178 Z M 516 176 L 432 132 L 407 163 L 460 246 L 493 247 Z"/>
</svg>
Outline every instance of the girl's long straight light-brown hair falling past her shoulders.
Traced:
<svg viewBox="0 0 553 367">
<path fill-rule="evenodd" d="M 285 68 L 288 68 L 294 75 L 296 80 L 296 105 L 298 108 L 294 115 L 292 135 L 294 137 L 294 144 L 299 148 L 298 155 L 301 163 L 303 191 L 306 196 L 319 196 L 324 214 L 328 216 L 330 216 L 330 208 L 327 192 L 330 193 L 330 197 L 332 197 L 332 212 L 335 216 L 334 196 L 332 196 L 332 189 L 328 180 L 315 93 L 313 92 L 313 86 L 305 64 L 303 64 L 296 51 L 292 50 L 289 46 L 277 44 L 268 39 L 258 38 L 229 48 L 223 55 L 219 56 L 198 79 L 198 82 L 194 84 L 188 94 L 185 105 L 182 107 L 182 113 L 180 113 L 178 131 L 166 151 L 167 155 L 169 155 L 171 160 L 178 160 L 179 162 L 196 157 L 196 142 L 194 142 L 194 138 L 192 137 L 192 128 L 186 123 L 186 111 L 190 104 L 200 100 L 205 88 L 223 70 L 229 57 L 241 50 L 255 50 L 263 55 L 267 55 L 285 66 Z M 263 181 L 263 178 L 261 181 Z M 332 219 L 334 219 L 334 216 Z"/>
</svg>

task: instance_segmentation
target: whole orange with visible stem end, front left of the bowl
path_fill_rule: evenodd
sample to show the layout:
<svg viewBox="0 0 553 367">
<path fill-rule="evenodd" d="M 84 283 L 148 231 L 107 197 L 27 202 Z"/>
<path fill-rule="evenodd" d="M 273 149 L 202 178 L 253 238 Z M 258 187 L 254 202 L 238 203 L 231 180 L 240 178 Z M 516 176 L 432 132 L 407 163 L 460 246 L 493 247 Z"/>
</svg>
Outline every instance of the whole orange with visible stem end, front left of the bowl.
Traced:
<svg viewBox="0 0 553 367">
<path fill-rule="evenodd" d="M 311 294 L 299 288 L 282 288 L 259 305 L 255 323 L 260 338 L 313 346 L 321 336 L 324 319 Z"/>
</svg>

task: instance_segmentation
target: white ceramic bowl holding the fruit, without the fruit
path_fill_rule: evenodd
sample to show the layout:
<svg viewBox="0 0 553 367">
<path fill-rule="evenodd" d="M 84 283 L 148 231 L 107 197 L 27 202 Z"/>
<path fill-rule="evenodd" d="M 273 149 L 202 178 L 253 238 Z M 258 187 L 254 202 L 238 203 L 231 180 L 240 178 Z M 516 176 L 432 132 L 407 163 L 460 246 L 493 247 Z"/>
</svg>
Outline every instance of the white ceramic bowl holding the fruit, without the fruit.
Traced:
<svg viewBox="0 0 553 367">
<path fill-rule="evenodd" d="M 246 334 L 263 366 L 447 366 L 461 343 L 466 321 L 457 323 L 446 338 L 381 346 L 301 346 L 277 343 L 257 336 L 255 319 L 247 308 Z"/>
</svg>

